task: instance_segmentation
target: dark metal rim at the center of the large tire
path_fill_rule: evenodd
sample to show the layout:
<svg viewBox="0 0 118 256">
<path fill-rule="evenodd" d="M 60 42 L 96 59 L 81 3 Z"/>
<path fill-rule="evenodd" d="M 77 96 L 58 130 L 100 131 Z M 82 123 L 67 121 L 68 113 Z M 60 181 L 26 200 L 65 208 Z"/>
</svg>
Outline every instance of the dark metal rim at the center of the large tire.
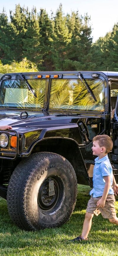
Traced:
<svg viewBox="0 0 118 256">
<path fill-rule="evenodd" d="M 50 195 L 50 181 L 53 183 L 54 194 Z M 59 176 L 50 176 L 41 184 L 37 202 L 40 210 L 45 214 L 53 214 L 61 207 L 65 197 L 65 187 Z"/>
</svg>

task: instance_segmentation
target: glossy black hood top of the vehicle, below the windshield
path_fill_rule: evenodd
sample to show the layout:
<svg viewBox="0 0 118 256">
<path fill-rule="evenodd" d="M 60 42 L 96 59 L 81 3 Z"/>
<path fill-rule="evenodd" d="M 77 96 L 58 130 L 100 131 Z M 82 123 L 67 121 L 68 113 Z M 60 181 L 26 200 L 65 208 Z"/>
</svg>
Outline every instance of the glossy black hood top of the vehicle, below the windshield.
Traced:
<svg viewBox="0 0 118 256">
<path fill-rule="evenodd" d="M 8 116 L 9 113 L 7 113 Z M 10 114 L 9 114 L 10 115 Z M 22 116 L 22 118 L 24 118 Z M 76 114 L 58 114 L 58 113 L 44 113 L 44 112 L 28 112 L 26 119 L 22 119 L 20 113 L 15 113 L 14 116 L 1 119 L 0 125 L 11 125 L 14 130 L 24 132 L 34 129 L 43 129 L 49 127 L 67 126 L 76 123 L 75 119 L 79 119 Z M 74 118 L 74 121 L 73 121 Z"/>
</svg>

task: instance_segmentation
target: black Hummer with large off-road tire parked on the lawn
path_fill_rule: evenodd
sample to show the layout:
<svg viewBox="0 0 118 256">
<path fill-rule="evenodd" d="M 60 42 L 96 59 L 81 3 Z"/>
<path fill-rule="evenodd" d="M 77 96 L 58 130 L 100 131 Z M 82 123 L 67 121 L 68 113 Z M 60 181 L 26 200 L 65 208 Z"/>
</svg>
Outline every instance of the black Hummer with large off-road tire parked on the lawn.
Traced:
<svg viewBox="0 0 118 256">
<path fill-rule="evenodd" d="M 118 182 L 118 72 L 5 74 L 0 80 L 0 196 L 22 229 L 71 216 L 77 183 L 92 186 L 92 139 L 112 137 Z M 112 108 L 115 116 L 112 118 Z"/>
</svg>

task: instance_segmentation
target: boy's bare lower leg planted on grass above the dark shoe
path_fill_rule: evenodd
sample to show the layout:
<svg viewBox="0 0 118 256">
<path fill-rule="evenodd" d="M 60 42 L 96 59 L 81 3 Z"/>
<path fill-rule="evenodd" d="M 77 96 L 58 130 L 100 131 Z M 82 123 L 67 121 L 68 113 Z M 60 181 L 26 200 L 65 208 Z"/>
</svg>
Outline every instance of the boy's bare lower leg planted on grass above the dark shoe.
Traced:
<svg viewBox="0 0 118 256">
<path fill-rule="evenodd" d="M 84 239 L 87 238 L 89 231 L 91 229 L 93 216 L 94 216 L 94 213 L 86 212 L 84 223 L 83 223 L 82 234 L 81 234 L 82 238 L 84 238 Z"/>
</svg>

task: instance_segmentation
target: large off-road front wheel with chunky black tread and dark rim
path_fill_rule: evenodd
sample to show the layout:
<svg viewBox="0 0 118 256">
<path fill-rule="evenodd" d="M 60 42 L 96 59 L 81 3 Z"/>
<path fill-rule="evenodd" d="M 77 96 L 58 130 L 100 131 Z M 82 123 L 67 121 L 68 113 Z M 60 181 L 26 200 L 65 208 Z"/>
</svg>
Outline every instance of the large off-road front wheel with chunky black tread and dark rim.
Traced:
<svg viewBox="0 0 118 256">
<path fill-rule="evenodd" d="M 15 168 L 7 191 L 9 214 L 20 228 L 61 226 L 73 212 L 77 179 L 70 162 L 55 153 L 34 153 Z"/>
</svg>

